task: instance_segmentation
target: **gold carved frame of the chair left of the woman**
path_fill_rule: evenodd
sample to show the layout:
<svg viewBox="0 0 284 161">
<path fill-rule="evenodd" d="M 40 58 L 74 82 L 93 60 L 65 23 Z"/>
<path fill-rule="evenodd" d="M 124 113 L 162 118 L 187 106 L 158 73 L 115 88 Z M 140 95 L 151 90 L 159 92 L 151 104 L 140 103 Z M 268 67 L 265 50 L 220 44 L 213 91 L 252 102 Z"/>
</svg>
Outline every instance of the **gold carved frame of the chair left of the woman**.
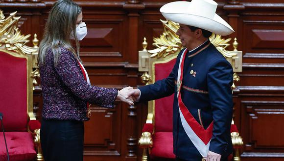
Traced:
<svg viewBox="0 0 284 161">
<path fill-rule="evenodd" d="M 27 60 L 27 115 L 29 120 L 36 120 L 33 112 L 33 90 L 37 85 L 36 78 L 39 78 L 37 67 L 38 43 L 37 35 L 34 34 L 33 47 L 27 46 L 28 38 L 24 36 L 18 28 L 18 21 L 21 17 L 16 16 L 16 12 L 11 13 L 5 18 L 3 11 L 0 10 L 0 51 L 8 53 L 14 57 L 25 58 Z M 33 140 L 36 145 L 37 161 L 43 161 L 40 129 L 33 133 Z"/>
</svg>

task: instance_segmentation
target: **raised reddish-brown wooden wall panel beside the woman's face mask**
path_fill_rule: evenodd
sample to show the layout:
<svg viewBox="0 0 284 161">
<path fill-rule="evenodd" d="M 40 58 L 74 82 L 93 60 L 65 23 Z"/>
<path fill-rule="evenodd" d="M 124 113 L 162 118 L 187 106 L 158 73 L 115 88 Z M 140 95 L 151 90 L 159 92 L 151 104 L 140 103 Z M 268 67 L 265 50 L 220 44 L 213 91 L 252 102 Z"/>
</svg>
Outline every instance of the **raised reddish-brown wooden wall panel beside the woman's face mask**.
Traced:
<svg viewBox="0 0 284 161">
<path fill-rule="evenodd" d="M 94 57 L 122 57 L 123 20 L 85 19 L 88 34 L 80 42 L 81 53 Z"/>
</svg>

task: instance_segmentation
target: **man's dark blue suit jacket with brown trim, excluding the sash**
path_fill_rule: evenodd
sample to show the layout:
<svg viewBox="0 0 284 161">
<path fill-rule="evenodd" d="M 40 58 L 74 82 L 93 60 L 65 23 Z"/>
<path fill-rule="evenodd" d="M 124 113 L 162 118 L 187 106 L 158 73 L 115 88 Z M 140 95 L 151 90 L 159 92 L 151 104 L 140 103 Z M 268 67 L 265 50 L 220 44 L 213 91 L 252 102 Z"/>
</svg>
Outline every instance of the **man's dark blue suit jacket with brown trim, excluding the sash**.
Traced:
<svg viewBox="0 0 284 161">
<path fill-rule="evenodd" d="M 189 140 L 180 120 L 177 101 L 177 73 L 183 49 L 177 56 L 176 63 L 166 79 L 140 87 L 140 101 L 150 101 L 170 96 L 173 102 L 173 147 L 174 154 L 188 161 L 201 161 L 193 143 Z M 186 55 L 184 62 L 182 100 L 189 112 L 205 128 L 213 123 L 213 136 L 209 150 L 222 155 L 225 159 L 233 151 L 230 127 L 233 115 L 232 83 L 233 69 L 223 55 L 207 40 Z M 190 71 L 196 72 L 195 77 Z"/>
</svg>

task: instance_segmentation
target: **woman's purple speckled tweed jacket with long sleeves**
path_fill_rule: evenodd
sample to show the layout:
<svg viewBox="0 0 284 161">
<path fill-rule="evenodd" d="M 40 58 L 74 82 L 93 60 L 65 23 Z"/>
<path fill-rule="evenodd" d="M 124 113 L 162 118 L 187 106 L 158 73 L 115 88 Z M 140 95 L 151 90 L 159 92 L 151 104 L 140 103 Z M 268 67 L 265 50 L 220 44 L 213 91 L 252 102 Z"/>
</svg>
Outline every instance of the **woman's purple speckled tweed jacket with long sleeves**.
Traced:
<svg viewBox="0 0 284 161">
<path fill-rule="evenodd" d="M 87 121 L 87 102 L 113 108 L 118 95 L 115 88 L 89 85 L 71 51 L 60 48 L 58 63 L 47 51 L 45 64 L 40 64 L 44 119 Z"/>
</svg>

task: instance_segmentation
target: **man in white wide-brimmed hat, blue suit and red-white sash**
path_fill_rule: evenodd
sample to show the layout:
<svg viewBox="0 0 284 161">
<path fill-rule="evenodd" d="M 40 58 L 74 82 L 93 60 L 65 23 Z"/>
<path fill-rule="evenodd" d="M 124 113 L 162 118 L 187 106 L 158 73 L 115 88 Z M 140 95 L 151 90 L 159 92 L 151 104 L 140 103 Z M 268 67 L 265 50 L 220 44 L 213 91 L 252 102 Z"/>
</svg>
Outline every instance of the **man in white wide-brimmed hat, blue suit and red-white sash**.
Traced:
<svg viewBox="0 0 284 161">
<path fill-rule="evenodd" d="M 160 11 L 180 23 L 185 47 L 166 79 L 129 91 L 140 101 L 170 96 L 173 103 L 173 147 L 178 161 L 225 161 L 232 153 L 233 100 L 231 64 L 210 43 L 212 32 L 229 35 L 232 27 L 215 14 L 213 0 L 177 1 Z"/>
</svg>

